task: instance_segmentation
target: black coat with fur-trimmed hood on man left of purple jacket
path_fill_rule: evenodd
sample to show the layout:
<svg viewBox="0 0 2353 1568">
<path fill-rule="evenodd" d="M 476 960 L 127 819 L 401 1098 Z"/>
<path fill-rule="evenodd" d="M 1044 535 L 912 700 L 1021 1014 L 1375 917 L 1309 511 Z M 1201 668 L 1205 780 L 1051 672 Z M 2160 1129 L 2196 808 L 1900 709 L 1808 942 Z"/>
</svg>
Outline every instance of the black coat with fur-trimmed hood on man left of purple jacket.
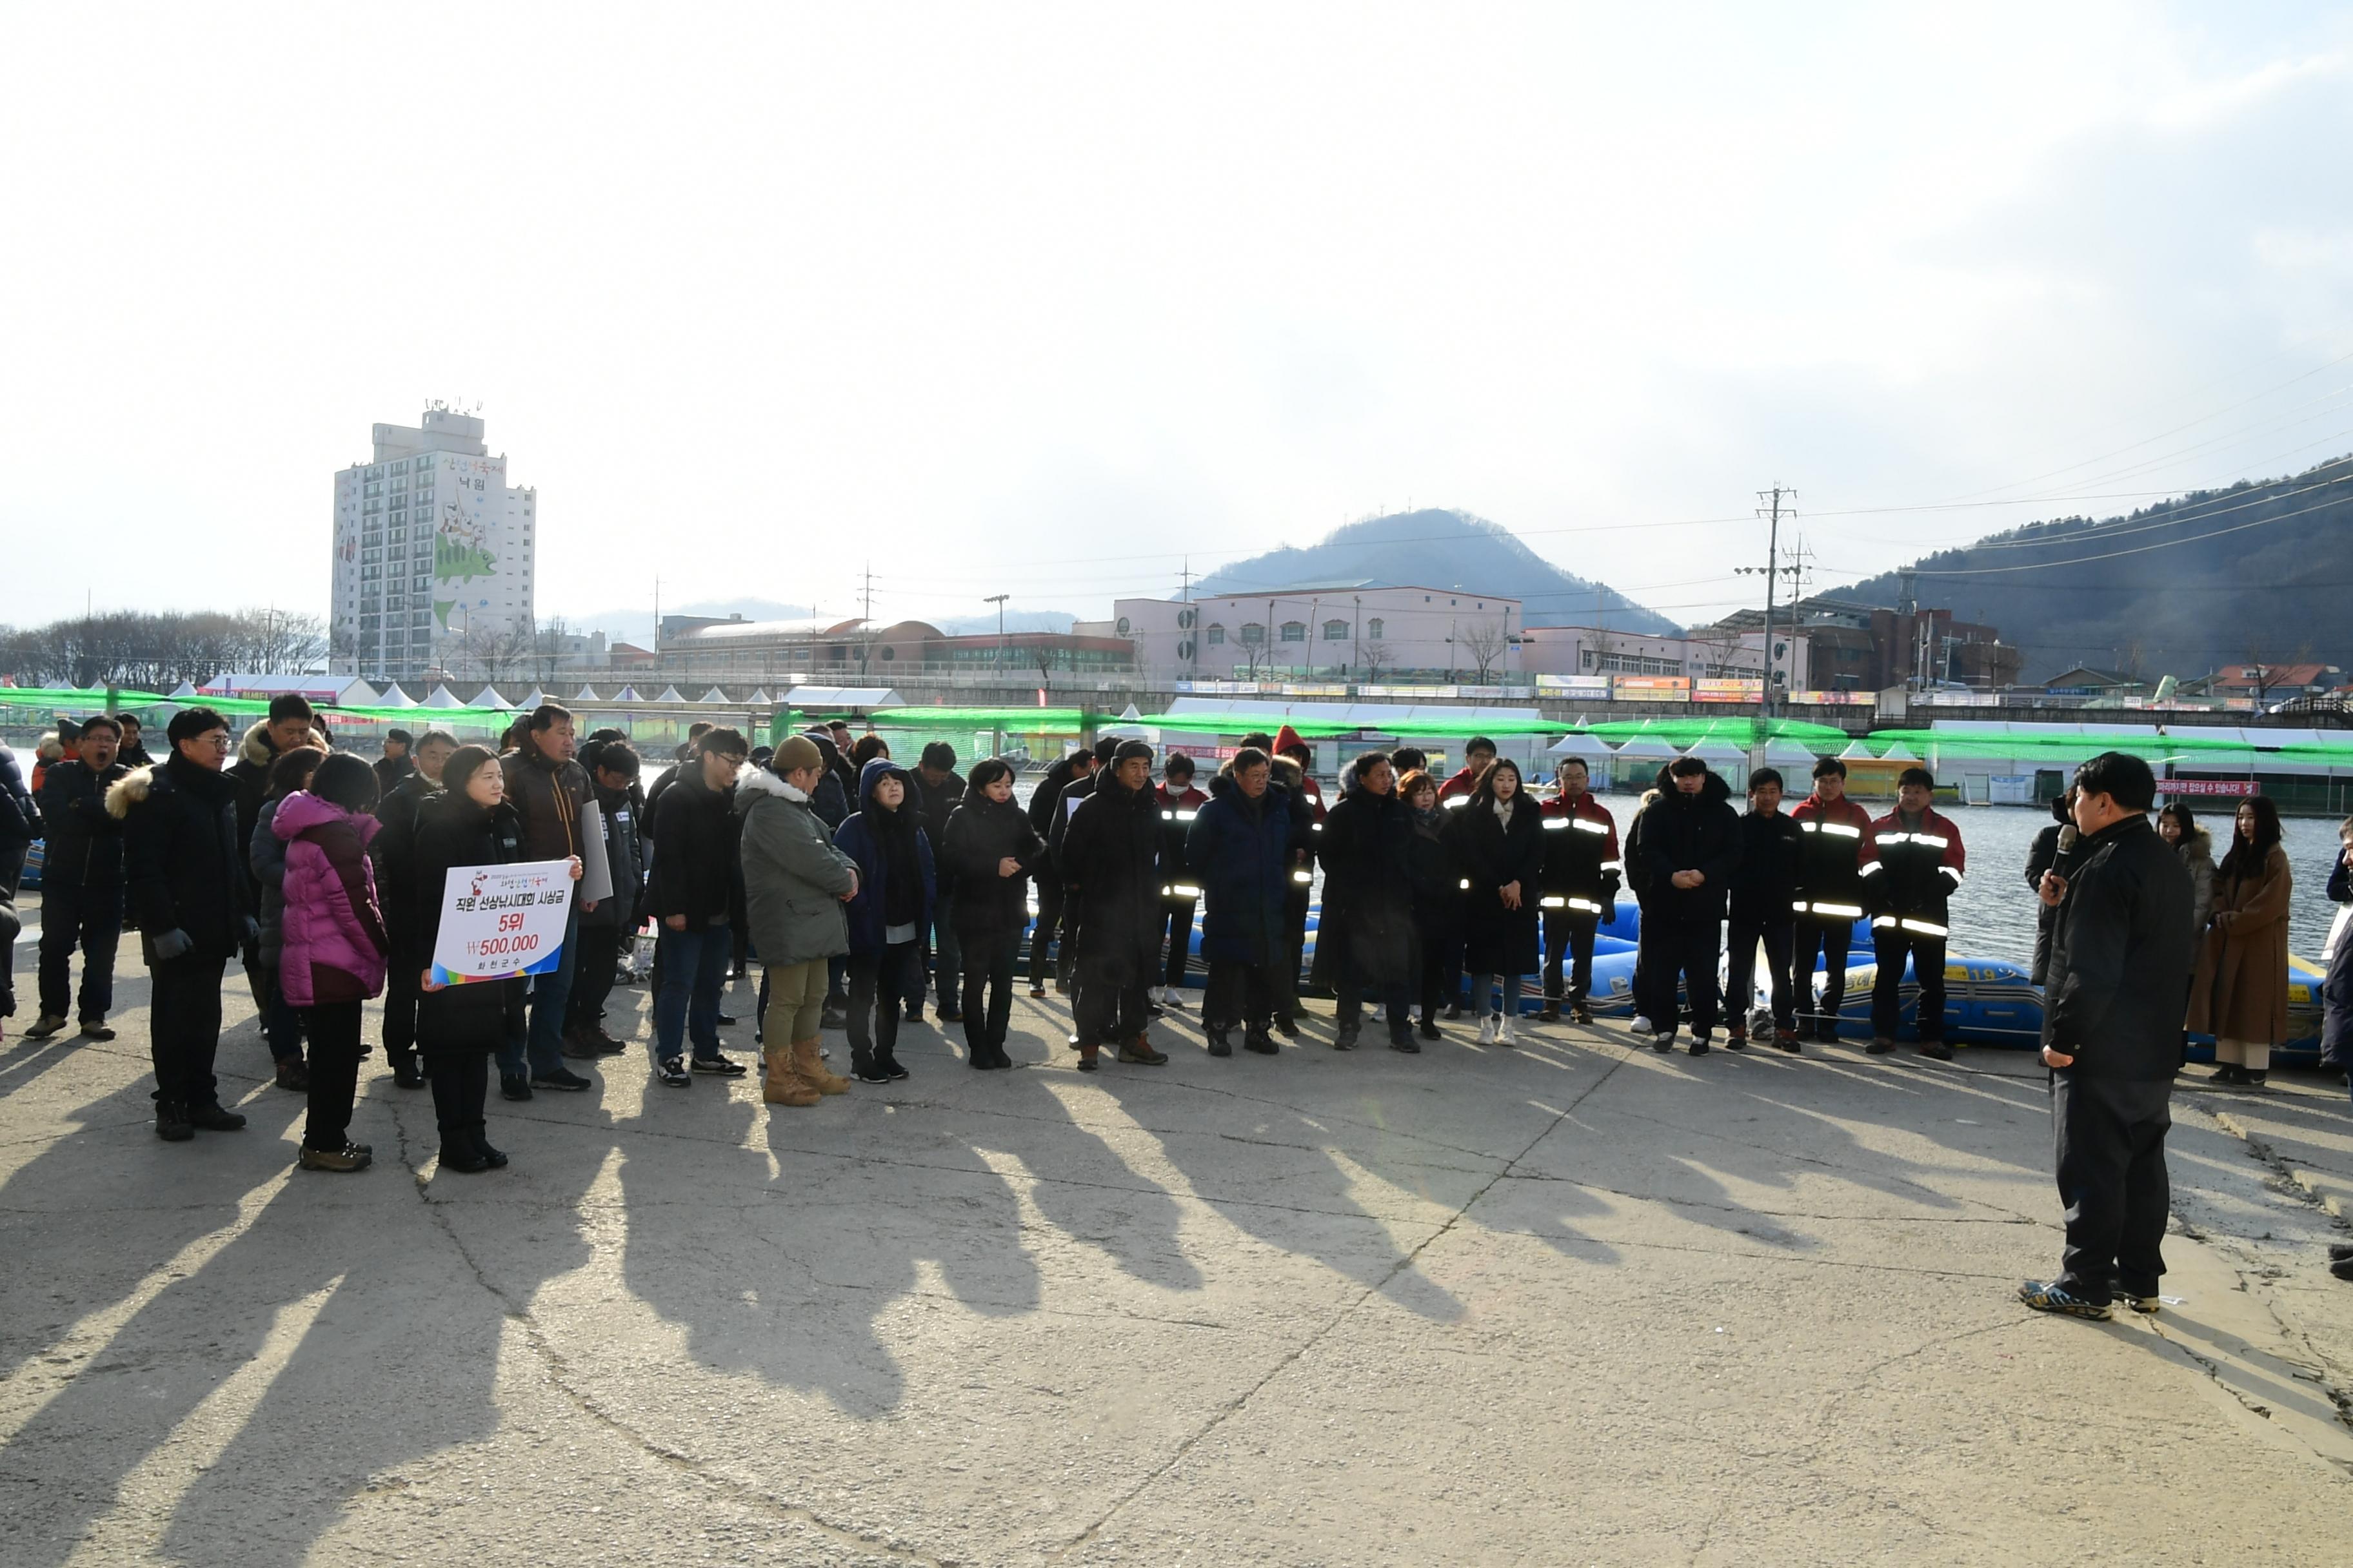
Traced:
<svg viewBox="0 0 2353 1568">
<path fill-rule="evenodd" d="M 235 957 L 259 936 L 238 842 L 238 780 L 174 752 L 162 766 L 125 773 L 106 792 L 122 820 L 122 877 L 148 966 L 155 938 L 186 931 L 193 952 Z"/>
</svg>

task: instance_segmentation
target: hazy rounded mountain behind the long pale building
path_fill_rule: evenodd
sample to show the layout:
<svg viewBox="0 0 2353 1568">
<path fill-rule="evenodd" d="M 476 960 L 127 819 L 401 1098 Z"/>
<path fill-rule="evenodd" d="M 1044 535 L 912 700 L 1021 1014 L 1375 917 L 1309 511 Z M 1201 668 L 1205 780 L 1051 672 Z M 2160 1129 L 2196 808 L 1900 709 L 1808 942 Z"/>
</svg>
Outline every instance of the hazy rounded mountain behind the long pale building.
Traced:
<svg viewBox="0 0 2353 1568">
<path fill-rule="evenodd" d="M 1195 583 L 1193 592 L 1217 597 L 1358 578 L 1424 588 L 1461 585 L 1468 592 L 1520 599 L 1527 625 L 1593 625 L 1595 614 L 1607 614 L 1609 628 L 1621 632 L 1680 630 L 1614 588 L 1562 571 L 1513 538 L 1511 529 L 1440 508 L 1367 517 L 1334 529 L 1318 545 L 1304 550 L 1285 545 L 1219 567 Z"/>
</svg>

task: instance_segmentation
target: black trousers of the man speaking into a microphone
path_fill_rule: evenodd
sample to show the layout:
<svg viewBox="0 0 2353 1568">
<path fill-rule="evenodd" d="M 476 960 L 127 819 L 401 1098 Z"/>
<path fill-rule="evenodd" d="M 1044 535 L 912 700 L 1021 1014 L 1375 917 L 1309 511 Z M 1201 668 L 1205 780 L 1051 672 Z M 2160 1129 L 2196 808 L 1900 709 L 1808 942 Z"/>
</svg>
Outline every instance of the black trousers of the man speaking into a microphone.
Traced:
<svg viewBox="0 0 2353 1568">
<path fill-rule="evenodd" d="M 2165 1274 L 2165 1133 L 2169 1079 L 2052 1074 L 2052 1140 L 2066 1204 L 2059 1284 L 2087 1302 L 2108 1300 L 2113 1276 L 2132 1295 L 2155 1295 Z"/>
</svg>

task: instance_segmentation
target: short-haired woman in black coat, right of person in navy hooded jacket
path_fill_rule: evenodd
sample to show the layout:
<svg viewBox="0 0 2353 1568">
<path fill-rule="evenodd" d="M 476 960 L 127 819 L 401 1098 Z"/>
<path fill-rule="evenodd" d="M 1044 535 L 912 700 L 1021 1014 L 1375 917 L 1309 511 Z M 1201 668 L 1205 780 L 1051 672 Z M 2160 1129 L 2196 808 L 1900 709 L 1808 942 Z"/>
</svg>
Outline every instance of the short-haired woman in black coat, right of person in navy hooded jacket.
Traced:
<svg viewBox="0 0 2353 1568">
<path fill-rule="evenodd" d="M 1045 839 L 1014 804 L 1014 771 L 995 757 L 972 764 L 962 804 L 948 813 L 939 858 L 955 877 L 948 914 L 962 947 L 965 1060 L 1012 1067 L 1005 1030 L 1014 1006 L 1014 950 L 1028 926 L 1028 879 Z"/>
</svg>

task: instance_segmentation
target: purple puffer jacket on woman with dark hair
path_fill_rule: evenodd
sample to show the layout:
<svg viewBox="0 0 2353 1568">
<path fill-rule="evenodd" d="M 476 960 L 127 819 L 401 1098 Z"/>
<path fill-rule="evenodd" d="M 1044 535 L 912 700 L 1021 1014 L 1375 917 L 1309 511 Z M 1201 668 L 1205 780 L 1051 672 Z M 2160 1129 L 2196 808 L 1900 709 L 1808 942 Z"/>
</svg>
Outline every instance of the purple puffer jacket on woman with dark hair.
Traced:
<svg viewBox="0 0 2353 1568">
<path fill-rule="evenodd" d="M 278 802 L 271 832 L 287 846 L 278 985 L 292 1006 L 360 1001 L 384 990 L 391 940 L 376 910 L 376 870 L 367 860 L 379 825 L 308 790 Z"/>
</svg>

